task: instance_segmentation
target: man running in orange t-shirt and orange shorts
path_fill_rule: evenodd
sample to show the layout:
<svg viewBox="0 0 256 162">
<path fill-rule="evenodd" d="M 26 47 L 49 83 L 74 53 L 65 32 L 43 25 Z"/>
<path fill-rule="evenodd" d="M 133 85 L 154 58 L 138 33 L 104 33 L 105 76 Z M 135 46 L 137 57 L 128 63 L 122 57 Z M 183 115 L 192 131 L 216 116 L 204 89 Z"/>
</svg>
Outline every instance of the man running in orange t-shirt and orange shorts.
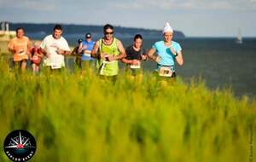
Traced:
<svg viewBox="0 0 256 162">
<path fill-rule="evenodd" d="M 16 37 L 9 42 L 8 49 L 14 54 L 14 68 L 24 72 L 30 55 L 30 40 L 22 27 L 16 29 Z"/>
</svg>

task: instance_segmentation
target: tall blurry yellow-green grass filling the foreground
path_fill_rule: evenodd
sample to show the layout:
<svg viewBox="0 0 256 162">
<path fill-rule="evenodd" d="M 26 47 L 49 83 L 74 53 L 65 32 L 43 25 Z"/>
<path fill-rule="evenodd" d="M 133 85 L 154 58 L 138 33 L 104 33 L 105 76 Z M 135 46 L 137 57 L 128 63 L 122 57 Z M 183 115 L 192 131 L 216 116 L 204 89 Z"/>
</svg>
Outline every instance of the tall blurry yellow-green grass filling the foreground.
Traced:
<svg viewBox="0 0 256 162">
<path fill-rule="evenodd" d="M 252 125 L 256 153 L 256 102 L 196 79 L 16 74 L 5 61 L 0 73 L 1 146 L 11 130 L 29 130 L 32 161 L 248 161 Z"/>
</svg>

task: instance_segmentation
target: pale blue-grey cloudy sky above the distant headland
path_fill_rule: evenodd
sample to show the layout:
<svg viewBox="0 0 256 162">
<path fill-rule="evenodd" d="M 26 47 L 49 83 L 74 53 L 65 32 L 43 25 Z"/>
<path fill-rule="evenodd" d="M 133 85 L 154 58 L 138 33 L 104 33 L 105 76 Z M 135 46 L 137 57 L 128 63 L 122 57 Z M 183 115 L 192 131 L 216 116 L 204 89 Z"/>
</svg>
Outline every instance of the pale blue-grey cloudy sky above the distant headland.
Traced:
<svg viewBox="0 0 256 162">
<path fill-rule="evenodd" d="M 256 0 L 0 0 L 0 21 L 143 27 L 187 37 L 256 37 Z"/>
</svg>

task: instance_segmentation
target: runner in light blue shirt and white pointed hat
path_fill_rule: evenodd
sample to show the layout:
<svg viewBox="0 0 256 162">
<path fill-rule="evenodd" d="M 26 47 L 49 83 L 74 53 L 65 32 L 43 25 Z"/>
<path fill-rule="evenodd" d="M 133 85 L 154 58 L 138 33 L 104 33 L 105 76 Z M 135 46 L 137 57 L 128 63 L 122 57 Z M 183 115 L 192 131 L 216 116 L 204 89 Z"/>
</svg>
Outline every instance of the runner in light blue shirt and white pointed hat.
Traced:
<svg viewBox="0 0 256 162">
<path fill-rule="evenodd" d="M 173 30 L 168 22 L 163 29 L 164 40 L 154 43 L 148 51 L 148 57 L 157 62 L 157 72 L 161 77 L 175 78 L 175 61 L 183 65 L 182 48 L 179 43 L 172 41 Z M 157 55 L 154 55 L 156 53 Z"/>
</svg>

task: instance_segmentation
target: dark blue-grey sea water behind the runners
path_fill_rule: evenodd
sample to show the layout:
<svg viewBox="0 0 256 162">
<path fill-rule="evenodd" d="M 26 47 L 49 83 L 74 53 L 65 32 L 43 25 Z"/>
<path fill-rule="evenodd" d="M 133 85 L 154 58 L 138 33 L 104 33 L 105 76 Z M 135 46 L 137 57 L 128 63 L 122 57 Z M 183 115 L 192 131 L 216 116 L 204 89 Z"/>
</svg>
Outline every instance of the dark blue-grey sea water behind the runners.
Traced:
<svg viewBox="0 0 256 162">
<path fill-rule="evenodd" d="M 29 34 L 28 34 L 29 35 Z M 32 39 L 43 35 L 29 35 Z M 94 35 L 92 35 L 94 37 Z M 64 35 L 68 43 L 75 46 L 83 34 Z M 94 40 L 102 35 L 95 35 Z M 158 38 L 143 39 L 143 48 L 149 49 Z M 132 37 L 120 37 L 125 47 L 132 44 Z M 202 78 L 211 89 L 232 88 L 235 95 L 256 96 L 256 38 L 244 38 L 236 43 L 236 38 L 174 38 L 180 43 L 183 52 L 183 67 L 176 65 L 177 75 L 184 80 Z M 73 58 L 67 59 L 67 67 L 74 65 Z M 122 63 L 120 63 L 121 67 Z M 153 61 L 143 63 L 145 71 L 153 72 Z"/>
</svg>

